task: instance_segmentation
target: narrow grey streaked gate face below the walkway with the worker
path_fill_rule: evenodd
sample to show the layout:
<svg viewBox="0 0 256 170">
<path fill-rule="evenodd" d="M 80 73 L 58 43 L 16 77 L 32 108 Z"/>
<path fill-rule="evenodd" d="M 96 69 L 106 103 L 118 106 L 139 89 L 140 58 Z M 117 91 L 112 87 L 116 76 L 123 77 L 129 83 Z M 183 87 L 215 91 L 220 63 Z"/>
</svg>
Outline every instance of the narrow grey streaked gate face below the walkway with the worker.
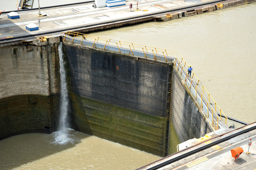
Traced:
<svg viewBox="0 0 256 170">
<path fill-rule="evenodd" d="M 180 142 L 200 138 L 213 129 L 205 120 L 204 114 L 177 70 L 172 79 L 172 125 Z"/>
</svg>

